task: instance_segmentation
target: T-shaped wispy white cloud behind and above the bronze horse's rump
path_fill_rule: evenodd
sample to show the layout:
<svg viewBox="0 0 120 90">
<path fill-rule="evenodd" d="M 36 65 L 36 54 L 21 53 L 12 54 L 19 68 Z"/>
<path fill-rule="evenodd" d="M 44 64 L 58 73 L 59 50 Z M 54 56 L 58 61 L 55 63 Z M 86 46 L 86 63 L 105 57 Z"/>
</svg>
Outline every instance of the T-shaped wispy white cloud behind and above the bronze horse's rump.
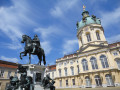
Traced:
<svg viewBox="0 0 120 90">
<path fill-rule="evenodd" d="M 45 49 L 46 54 L 49 54 L 50 51 L 52 50 L 52 46 L 50 45 L 51 38 L 58 37 L 58 35 L 62 34 L 62 31 L 56 26 L 49 26 L 47 28 L 39 27 L 39 28 L 36 28 L 34 32 L 39 33 L 42 39 L 44 40 L 43 42 L 41 42 L 41 45 L 42 45 L 42 48 Z"/>
</svg>

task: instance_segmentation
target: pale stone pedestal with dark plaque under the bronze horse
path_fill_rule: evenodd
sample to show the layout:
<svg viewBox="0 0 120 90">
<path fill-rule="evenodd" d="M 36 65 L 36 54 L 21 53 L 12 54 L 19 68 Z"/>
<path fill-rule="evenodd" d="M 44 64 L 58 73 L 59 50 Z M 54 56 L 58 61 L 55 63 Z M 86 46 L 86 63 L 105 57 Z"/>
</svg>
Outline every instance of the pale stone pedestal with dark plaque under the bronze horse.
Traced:
<svg viewBox="0 0 120 90">
<path fill-rule="evenodd" d="M 42 80 L 45 75 L 45 66 L 36 64 L 24 64 L 22 66 L 28 67 L 27 76 L 31 76 L 33 78 L 34 90 L 46 90 L 42 86 Z"/>
</svg>

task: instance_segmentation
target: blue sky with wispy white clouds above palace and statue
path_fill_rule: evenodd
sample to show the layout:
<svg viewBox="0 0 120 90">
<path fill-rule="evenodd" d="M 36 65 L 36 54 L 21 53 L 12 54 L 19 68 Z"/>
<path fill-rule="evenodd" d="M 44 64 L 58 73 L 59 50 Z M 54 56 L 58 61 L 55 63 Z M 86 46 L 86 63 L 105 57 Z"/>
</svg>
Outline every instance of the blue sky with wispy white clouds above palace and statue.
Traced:
<svg viewBox="0 0 120 90">
<path fill-rule="evenodd" d="M 76 22 L 85 4 L 90 15 L 101 19 L 109 43 L 120 39 L 120 0 L 0 0 L 0 59 L 22 64 L 23 34 L 37 34 L 46 53 L 47 64 L 78 50 Z M 32 56 L 32 63 L 38 62 Z"/>
</svg>

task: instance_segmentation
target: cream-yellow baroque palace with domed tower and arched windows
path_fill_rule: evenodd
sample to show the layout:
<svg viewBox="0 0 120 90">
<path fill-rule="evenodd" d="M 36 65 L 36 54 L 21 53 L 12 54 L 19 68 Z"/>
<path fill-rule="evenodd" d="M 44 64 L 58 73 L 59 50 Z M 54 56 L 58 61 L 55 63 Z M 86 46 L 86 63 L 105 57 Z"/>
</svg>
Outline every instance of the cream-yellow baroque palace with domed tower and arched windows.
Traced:
<svg viewBox="0 0 120 90">
<path fill-rule="evenodd" d="M 120 86 L 120 42 L 108 44 L 101 21 L 83 11 L 79 50 L 56 60 L 56 88 Z"/>
</svg>

